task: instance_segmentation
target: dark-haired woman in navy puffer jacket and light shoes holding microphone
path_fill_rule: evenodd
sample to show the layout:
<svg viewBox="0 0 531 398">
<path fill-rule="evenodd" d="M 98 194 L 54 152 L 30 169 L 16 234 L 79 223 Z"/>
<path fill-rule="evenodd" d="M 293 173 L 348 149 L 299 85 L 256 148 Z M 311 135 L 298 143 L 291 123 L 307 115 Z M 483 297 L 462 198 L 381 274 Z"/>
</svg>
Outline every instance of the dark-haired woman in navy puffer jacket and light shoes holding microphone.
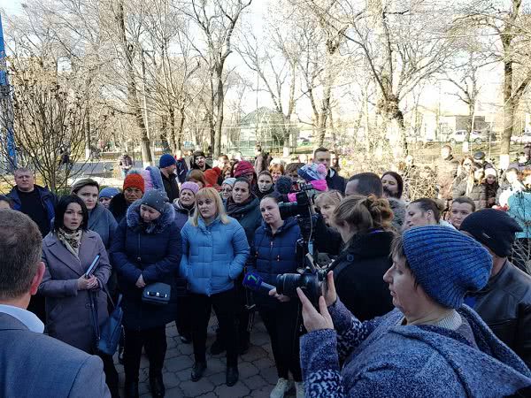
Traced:
<svg viewBox="0 0 531 398">
<path fill-rule="evenodd" d="M 283 220 L 279 210 L 279 195 L 266 195 L 260 202 L 264 222 L 254 235 L 248 270 L 256 272 L 270 285 L 282 273 L 296 272 L 296 241 L 301 237 L 295 218 Z M 293 375 L 296 396 L 304 397 L 304 386 L 299 359 L 298 329 L 301 322 L 298 300 L 285 295 L 254 295 L 260 317 L 271 339 L 278 382 L 272 397 L 283 397 L 292 387 L 289 371 Z"/>
</svg>

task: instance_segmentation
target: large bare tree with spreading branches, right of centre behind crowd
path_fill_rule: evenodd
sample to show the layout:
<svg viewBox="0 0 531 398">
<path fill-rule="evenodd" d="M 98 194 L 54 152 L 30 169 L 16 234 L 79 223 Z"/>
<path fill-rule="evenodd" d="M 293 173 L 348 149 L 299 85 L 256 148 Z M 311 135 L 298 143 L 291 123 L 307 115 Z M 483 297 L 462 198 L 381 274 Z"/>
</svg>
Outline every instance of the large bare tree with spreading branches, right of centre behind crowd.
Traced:
<svg viewBox="0 0 531 398">
<path fill-rule="evenodd" d="M 395 155 L 407 153 L 406 126 L 401 102 L 423 80 L 443 72 L 450 42 L 442 4 L 427 0 L 375 0 L 366 6 L 353 0 L 327 7 L 305 0 L 329 29 L 342 34 L 352 50 L 360 51 L 380 90 L 378 111 L 396 123 Z M 433 18 L 430 18 L 432 16 Z M 400 148 L 401 147 L 401 148 Z"/>
</svg>

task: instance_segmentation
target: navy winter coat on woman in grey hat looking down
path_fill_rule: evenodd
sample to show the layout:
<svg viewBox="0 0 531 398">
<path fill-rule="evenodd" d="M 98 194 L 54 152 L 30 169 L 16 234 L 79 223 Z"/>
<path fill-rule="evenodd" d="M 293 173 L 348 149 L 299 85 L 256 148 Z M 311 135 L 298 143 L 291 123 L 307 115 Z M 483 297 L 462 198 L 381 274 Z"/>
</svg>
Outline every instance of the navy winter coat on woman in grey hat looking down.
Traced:
<svg viewBox="0 0 531 398">
<path fill-rule="evenodd" d="M 177 312 L 176 282 L 181 264 L 181 229 L 175 223 L 170 203 L 160 217 L 147 228 L 140 218 L 140 200 L 129 206 L 112 239 L 112 264 L 118 272 L 118 283 L 124 295 L 123 323 L 135 330 L 165 325 Z M 162 282 L 172 287 L 170 303 L 154 305 L 142 302 L 143 288 L 135 283 L 142 274 L 147 285 Z"/>
</svg>

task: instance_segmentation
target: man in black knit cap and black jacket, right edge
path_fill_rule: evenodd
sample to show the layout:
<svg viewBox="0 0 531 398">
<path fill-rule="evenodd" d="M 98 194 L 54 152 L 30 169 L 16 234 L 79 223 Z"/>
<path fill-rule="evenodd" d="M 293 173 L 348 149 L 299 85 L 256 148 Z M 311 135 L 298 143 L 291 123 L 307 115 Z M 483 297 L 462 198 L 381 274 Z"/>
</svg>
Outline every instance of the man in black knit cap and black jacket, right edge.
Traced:
<svg viewBox="0 0 531 398">
<path fill-rule="evenodd" d="M 460 229 L 489 249 L 493 263 L 487 286 L 466 303 L 531 369 L 531 276 L 507 259 L 520 226 L 504 211 L 483 209 L 466 217 Z"/>
</svg>

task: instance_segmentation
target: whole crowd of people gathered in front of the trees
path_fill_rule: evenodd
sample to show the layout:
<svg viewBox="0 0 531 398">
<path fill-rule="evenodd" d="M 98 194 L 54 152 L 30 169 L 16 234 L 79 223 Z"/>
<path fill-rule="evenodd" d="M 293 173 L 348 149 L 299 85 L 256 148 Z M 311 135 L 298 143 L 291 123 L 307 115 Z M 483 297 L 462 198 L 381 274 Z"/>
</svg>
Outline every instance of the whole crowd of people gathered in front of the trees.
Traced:
<svg viewBox="0 0 531 398">
<path fill-rule="evenodd" d="M 278 372 L 273 398 L 292 389 L 297 398 L 531 396 L 530 266 L 513 249 L 531 239 L 530 154 L 526 147 L 501 172 L 482 152 L 458 160 L 446 145 L 435 163 L 437 197 L 419 198 L 408 197 L 396 171 L 343 178 L 326 148 L 288 165 L 259 147 L 253 159 L 223 155 L 212 165 L 202 151 L 165 154 L 144 170 L 124 153 L 121 189 L 82 179 L 60 198 L 19 169 L 0 196 L 0 256 L 9 257 L 0 263 L 0 341 L 16 340 L 4 330 L 24 338 L 3 343 L 0 357 L 44 330 L 50 339 L 35 337 L 35 352 L 64 351 L 57 388 L 80 390 L 55 394 L 30 378 L 27 394 L 49 386 L 50 396 L 92 388 L 90 396 L 118 397 L 116 364 L 96 346 L 120 297 L 126 397 L 139 396 L 142 348 L 150 393 L 165 395 L 172 322 L 193 347 L 190 379 L 204 377 L 212 310 L 209 350 L 226 353 L 228 387 L 258 316 Z M 311 199 L 308 217 L 288 217 L 282 209 L 300 192 Z M 301 242 L 332 259 L 319 302 L 300 288 L 295 296 L 243 287 L 246 275 L 274 287 L 296 273 Z M 146 299 L 166 287 L 164 303 Z M 0 381 L 15 371 L 3 368 Z M 81 376 L 68 376 L 75 369 Z M 82 386 L 82 371 L 92 386 Z M 6 396 L 17 396 L 15 381 L 5 383 Z"/>
</svg>

